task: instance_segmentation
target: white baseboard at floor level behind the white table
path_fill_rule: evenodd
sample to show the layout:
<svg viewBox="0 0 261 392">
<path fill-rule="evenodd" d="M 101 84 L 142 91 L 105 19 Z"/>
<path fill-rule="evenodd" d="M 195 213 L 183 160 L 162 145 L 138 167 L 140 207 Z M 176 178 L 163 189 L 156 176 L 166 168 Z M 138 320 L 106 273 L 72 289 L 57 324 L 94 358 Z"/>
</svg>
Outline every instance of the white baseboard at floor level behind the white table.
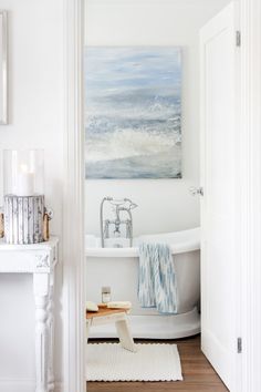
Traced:
<svg viewBox="0 0 261 392">
<path fill-rule="evenodd" d="M 0 379 L 0 392 L 35 392 L 32 379 Z M 54 392 L 63 392 L 62 382 L 55 382 Z"/>
</svg>

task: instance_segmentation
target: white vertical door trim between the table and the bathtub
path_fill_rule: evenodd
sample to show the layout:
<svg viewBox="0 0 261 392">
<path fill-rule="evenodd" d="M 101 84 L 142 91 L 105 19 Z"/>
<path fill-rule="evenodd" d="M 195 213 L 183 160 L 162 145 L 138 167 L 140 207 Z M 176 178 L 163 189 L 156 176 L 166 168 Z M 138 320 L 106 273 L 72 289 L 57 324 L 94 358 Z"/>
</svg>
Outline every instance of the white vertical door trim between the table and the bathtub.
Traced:
<svg viewBox="0 0 261 392">
<path fill-rule="evenodd" d="M 84 320 L 83 1 L 64 1 L 64 392 L 86 391 Z"/>
</svg>

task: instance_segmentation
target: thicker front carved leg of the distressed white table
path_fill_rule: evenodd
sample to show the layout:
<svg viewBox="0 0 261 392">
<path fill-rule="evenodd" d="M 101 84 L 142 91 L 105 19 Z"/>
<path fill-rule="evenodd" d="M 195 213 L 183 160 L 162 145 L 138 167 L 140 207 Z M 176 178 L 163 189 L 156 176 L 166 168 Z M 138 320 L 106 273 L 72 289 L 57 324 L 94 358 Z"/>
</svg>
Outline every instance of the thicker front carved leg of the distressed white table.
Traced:
<svg viewBox="0 0 261 392">
<path fill-rule="evenodd" d="M 35 392 L 48 392 L 48 359 L 49 359 L 49 274 L 33 275 L 33 291 L 35 301 Z"/>
</svg>

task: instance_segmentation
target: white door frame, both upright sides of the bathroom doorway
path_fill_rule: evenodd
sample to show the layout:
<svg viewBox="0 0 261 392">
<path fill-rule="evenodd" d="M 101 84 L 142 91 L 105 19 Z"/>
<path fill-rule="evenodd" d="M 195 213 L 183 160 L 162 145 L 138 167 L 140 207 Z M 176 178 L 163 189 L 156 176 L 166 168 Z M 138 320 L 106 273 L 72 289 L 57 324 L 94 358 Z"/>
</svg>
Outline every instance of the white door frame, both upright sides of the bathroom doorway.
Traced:
<svg viewBox="0 0 261 392">
<path fill-rule="evenodd" d="M 63 373 L 64 392 L 84 392 L 84 0 L 64 0 L 64 199 Z M 237 392 L 261 390 L 261 3 L 240 0 L 239 268 L 242 353 Z"/>
</svg>

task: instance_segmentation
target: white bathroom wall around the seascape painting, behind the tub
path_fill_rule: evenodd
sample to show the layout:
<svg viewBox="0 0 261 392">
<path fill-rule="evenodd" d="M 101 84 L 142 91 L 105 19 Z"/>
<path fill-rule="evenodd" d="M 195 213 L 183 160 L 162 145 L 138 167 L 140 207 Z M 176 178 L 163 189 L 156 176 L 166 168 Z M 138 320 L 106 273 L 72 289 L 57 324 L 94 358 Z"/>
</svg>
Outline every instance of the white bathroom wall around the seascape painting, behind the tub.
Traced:
<svg viewBox="0 0 261 392">
<path fill-rule="evenodd" d="M 86 231 L 98 234 L 105 195 L 130 197 L 134 231 L 171 231 L 199 225 L 198 32 L 228 0 L 86 0 L 90 45 L 182 45 L 182 179 L 86 180 Z"/>
</svg>

